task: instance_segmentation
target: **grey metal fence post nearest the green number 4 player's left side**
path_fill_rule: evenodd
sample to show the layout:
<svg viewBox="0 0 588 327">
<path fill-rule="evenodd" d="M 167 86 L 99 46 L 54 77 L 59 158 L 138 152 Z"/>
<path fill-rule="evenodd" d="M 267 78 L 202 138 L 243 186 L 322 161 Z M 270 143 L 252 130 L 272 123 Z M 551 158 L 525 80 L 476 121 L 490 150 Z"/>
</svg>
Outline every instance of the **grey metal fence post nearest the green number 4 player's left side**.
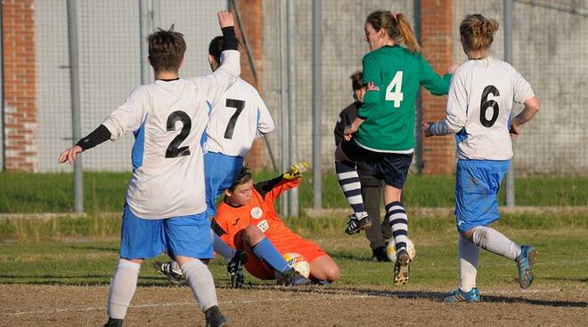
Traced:
<svg viewBox="0 0 588 327">
<path fill-rule="evenodd" d="M 323 178 L 321 166 L 321 100 L 323 99 L 321 74 L 322 65 L 322 32 L 323 2 L 313 1 L 313 203 L 314 209 L 323 207 Z"/>
</svg>

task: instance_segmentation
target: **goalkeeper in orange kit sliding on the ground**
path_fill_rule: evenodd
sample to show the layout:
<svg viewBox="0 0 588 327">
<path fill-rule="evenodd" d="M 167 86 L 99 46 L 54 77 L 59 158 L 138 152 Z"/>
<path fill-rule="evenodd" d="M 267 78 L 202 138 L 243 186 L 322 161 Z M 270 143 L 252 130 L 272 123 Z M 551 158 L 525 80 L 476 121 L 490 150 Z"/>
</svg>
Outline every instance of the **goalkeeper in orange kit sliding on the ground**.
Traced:
<svg viewBox="0 0 588 327">
<path fill-rule="evenodd" d="M 282 192 L 298 187 L 301 171 L 306 169 L 303 168 L 302 164 L 295 164 L 277 178 L 256 184 L 249 171 L 243 168 L 233 186 L 225 190 L 224 201 L 218 205 L 213 229 L 226 243 L 247 253 L 245 268 L 259 279 L 277 277 L 279 283 L 289 285 L 310 283 L 282 257 L 287 252 L 297 252 L 306 258 L 314 283 L 339 279 L 335 261 L 318 245 L 286 227 L 274 209 L 274 201 Z"/>
</svg>

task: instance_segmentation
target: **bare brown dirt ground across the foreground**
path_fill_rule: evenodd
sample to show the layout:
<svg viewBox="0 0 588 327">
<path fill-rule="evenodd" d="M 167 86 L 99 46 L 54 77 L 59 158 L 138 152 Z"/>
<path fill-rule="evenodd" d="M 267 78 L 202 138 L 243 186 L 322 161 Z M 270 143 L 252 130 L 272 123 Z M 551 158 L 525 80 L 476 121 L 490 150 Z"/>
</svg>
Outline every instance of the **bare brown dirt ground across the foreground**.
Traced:
<svg viewBox="0 0 588 327">
<path fill-rule="evenodd" d="M 588 281 L 587 281 L 588 282 Z M 585 285 L 584 285 L 585 286 Z M 483 290 L 479 304 L 407 287 L 217 289 L 230 326 L 586 326 L 588 286 Z M 0 285 L 0 326 L 102 326 L 107 286 Z M 203 326 L 187 287 L 138 287 L 125 326 Z"/>
</svg>

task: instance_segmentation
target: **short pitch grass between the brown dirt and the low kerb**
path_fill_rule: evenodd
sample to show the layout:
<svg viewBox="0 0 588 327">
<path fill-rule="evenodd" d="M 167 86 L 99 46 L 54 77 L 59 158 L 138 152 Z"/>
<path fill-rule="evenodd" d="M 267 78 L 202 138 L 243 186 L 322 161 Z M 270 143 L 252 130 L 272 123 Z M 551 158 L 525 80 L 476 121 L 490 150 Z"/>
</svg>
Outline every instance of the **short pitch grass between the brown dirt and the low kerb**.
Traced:
<svg viewBox="0 0 588 327">
<path fill-rule="evenodd" d="M 552 218 L 528 218 L 547 220 Z M 421 221 L 420 221 L 421 220 Z M 441 219 L 432 225 L 426 219 L 414 219 L 411 238 L 415 243 L 417 258 L 412 264 L 411 286 L 450 288 L 457 285 L 457 234 L 451 221 Z M 508 219 L 506 219 L 508 220 Z M 319 220 L 321 221 L 321 220 Z M 292 223 L 292 221 L 289 221 Z M 309 222 L 298 222 L 298 231 L 331 253 L 341 268 L 337 285 L 390 284 L 391 265 L 369 260 L 371 251 L 363 235 L 343 235 L 344 221 L 323 219 L 318 224 L 327 228 L 305 227 Z M 586 219 L 576 222 L 581 227 L 546 227 L 549 224 L 536 221 L 541 229 L 509 227 L 499 229 L 520 243 L 531 243 L 540 252 L 535 267 L 535 287 L 555 290 L 575 290 L 585 287 L 585 267 L 588 266 L 588 226 Z M 296 225 L 296 224 L 295 224 Z M 323 228 L 325 226 L 317 226 Z M 86 239 L 87 241 L 87 239 Z M 572 256 L 568 255 L 573 253 Z M 567 254 L 567 255 L 562 255 Z M 21 242 L 0 243 L 0 283 L 41 284 L 108 284 L 118 257 L 118 242 Z M 157 259 L 165 259 L 160 256 Z M 151 268 L 148 260 L 141 270 L 140 285 L 167 284 Z M 483 251 L 480 259 L 478 285 L 507 287 L 518 290 L 513 283 L 516 267 L 513 262 Z M 216 283 L 227 284 L 224 260 L 211 262 Z M 262 283 L 247 276 L 252 283 Z M 584 285 L 584 286 L 583 286 Z"/>
</svg>

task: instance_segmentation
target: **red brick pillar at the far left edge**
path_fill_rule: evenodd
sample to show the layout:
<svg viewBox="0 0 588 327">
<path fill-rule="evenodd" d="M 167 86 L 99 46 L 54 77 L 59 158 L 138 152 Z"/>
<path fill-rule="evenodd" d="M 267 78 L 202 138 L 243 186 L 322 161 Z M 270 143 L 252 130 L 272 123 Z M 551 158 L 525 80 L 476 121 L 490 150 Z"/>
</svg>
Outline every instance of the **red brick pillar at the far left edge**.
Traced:
<svg viewBox="0 0 588 327">
<path fill-rule="evenodd" d="M 4 151 L 9 171 L 37 170 L 33 4 L 33 0 L 4 0 Z"/>
</svg>

